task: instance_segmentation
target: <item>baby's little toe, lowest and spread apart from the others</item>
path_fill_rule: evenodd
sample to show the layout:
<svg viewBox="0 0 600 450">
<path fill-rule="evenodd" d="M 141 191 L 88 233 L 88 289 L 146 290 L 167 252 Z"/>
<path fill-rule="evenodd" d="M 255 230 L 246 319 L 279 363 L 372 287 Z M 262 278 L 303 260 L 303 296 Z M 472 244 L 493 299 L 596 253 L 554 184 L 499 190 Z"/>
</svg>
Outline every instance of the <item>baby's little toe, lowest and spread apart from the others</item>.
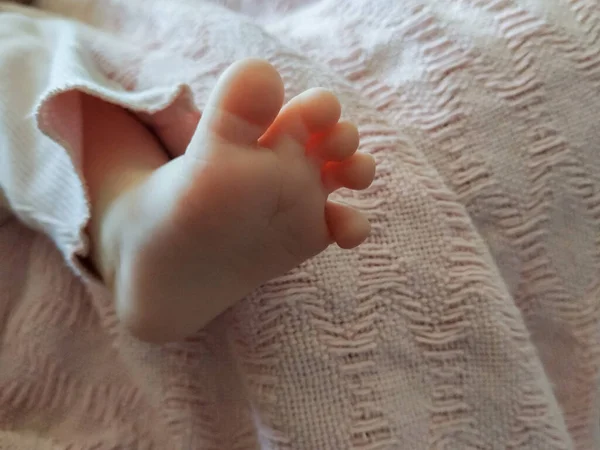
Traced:
<svg viewBox="0 0 600 450">
<path fill-rule="evenodd" d="M 325 218 L 332 239 L 343 249 L 358 247 L 371 233 L 371 224 L 360 211 L 328 201 Z"/>
</svg>

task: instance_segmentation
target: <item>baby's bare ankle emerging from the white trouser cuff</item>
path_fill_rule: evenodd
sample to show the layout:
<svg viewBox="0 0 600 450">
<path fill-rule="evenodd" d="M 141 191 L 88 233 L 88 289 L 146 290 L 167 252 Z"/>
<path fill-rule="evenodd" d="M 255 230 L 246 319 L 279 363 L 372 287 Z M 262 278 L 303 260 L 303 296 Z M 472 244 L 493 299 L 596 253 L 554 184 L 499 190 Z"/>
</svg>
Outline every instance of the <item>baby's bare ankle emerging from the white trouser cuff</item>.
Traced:
<svg viewBox="0 0 600 450">
<path fill-rule="evenodd" d="M 112 287 L 129 193 L 165 164 L 168 156 L 152 133 L 125 109 L 85 94 L 81 104 L 83 175 L 91 207 L 90 260 Z"/>
</svg>

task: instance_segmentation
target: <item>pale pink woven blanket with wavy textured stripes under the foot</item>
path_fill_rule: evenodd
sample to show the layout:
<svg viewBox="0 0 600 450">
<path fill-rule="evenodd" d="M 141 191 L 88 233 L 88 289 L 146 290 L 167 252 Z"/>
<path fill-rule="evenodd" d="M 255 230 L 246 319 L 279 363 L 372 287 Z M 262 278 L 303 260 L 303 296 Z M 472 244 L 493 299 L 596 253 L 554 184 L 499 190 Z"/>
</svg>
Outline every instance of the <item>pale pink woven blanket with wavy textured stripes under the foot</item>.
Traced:
<svg viewBox="0 0 600 450">
<path fill-rule="evenodd" d="M 600 448 L 595 0 L 40 3 L 107 31 L 85 45 L 131 90 L 202 109 L 259 56 L 335 91 L 374 232 L 152 347 L 4 225 L 0 448 Z"/>
</svg>

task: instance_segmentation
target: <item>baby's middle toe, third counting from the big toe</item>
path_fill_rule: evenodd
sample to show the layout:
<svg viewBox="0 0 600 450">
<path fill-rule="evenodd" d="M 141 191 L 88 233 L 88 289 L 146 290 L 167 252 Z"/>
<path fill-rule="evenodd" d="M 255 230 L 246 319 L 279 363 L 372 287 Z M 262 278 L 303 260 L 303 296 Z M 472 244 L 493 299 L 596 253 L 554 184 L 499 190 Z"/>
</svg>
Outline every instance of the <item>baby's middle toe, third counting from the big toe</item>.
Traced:
<svg viewBox="0 0 600 450">
<path fill-rule="evenodd" d="M 350 122 L 339 122 L 331 132 L 311 138 L 308 153 L 321 162 L 343 161 L 356 152 L 358 144 L 356 126 Z"/>
</svg>

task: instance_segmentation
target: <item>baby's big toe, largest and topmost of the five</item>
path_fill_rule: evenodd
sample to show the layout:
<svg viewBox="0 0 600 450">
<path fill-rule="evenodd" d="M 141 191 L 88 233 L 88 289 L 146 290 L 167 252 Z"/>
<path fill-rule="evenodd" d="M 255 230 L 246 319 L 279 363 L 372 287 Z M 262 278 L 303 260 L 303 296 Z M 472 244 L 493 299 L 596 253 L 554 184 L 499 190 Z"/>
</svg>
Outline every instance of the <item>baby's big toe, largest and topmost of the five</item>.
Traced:
<svg viewBox="0 0 600 450">
<path fill-rule="evenodd" d="M 196 130 L 196 137 L 217 136 L 237 145 L 255 144 L 283 104 L 283 82 L 267 61 L 232 64 L 219 78 Z M 188 153 L 202 152 L 190 145 Z"/>
</svg>

